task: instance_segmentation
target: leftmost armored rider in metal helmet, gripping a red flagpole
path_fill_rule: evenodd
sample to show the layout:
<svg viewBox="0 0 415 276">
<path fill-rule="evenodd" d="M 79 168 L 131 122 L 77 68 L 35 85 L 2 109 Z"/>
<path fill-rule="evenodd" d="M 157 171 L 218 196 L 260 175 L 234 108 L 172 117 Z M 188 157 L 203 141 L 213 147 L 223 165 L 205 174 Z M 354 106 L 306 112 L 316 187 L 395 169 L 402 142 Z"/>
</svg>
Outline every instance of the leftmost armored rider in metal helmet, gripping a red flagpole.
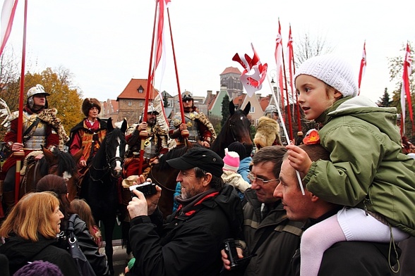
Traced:
<svg viewBox="0 0 415 276">
<path fill-rule="evenodd" d="M 3 194 L 3 201 L 6 208 L 14 205 L 14 189 L 16 186 L 16 161 L 23 160 L 25 156 L 33 151 L 41 151 L 42 146 L 47 149 L 58 147 L 64 149 L 68 136 L 61 125 L 61 120 L 56 118 L 58 111 L 55 108 L 47 109 L 46 96 L 50 94 L 44 91 L 41 84 L 36 84 L 28 90 L 28 100 L 23 107 L 23 143 L 18 143 L 18 115 L 15 111 L 8 119 L 10 125 L 4 137 L 4 142 L 9 151 L 12 152 L 0 173 L 0 195 Z M 20 152 L 24 154 L 18 154 Z M 42 158 L 38 154 L 35 159 Z M 0 217 L 2 208 L 0 206 Z"/>
</svg>

